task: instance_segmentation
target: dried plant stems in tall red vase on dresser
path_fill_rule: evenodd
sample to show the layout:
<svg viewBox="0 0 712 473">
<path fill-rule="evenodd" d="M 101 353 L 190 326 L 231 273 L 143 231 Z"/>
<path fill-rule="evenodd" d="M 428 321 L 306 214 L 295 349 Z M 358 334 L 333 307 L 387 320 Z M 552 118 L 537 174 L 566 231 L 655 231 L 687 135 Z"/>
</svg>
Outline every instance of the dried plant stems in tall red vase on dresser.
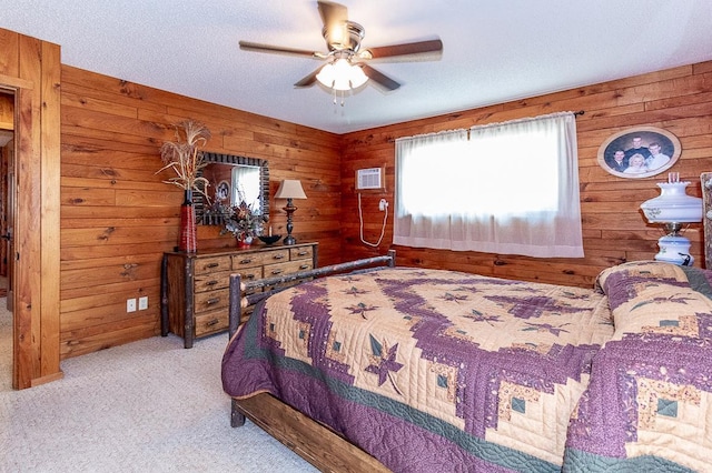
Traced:
<svg viewBox="0 0 712 473">
<path fill-rule="evenodd" d="M 210 131 L 199 122 L 185 120 L 176 125 L 176 141 L 166 141 L 160 148 L 164 167 L 156 173 L 172 169 L 176 175 L 164 181 L 186 191 L 197 191 L 209 200 L 209 181 L 199 177 L 199 171 L 208 165 L 200 150 L 210 139 Z"/>
</svg>

